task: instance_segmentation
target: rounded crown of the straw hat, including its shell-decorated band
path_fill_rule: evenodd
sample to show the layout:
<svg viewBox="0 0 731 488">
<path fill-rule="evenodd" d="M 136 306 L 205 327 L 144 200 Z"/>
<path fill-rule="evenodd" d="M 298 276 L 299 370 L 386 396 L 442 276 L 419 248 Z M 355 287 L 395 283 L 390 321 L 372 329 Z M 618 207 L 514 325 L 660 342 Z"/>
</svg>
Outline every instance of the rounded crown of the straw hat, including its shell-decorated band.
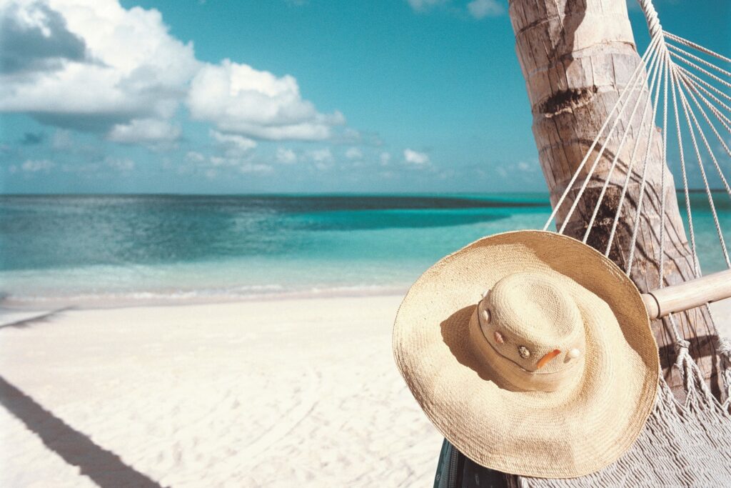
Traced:
<svg viewBox="0 0 731 488">
<path fill-rule="evenodd" d="M 515 385 L 526 389 L 551 390 L 569 380 L 583 356 L 585 331 L 581 312 L 568 290 L 550 274 L 516 273 L 502 278 L 480 301 L 480 328 L 491 348 L 509 361 L 493 361 L 497 372 L 516 383 L 515 372 L 523 369 L 541 375 Z M 561 373 L 564 374 L 561 374 Z M 548 375 L 556 373 L 555 380 Z M 560 380 L 559 380 L 560 377 Z M 548 381 L 545 381 L 548 380 Z"/>
</svg>

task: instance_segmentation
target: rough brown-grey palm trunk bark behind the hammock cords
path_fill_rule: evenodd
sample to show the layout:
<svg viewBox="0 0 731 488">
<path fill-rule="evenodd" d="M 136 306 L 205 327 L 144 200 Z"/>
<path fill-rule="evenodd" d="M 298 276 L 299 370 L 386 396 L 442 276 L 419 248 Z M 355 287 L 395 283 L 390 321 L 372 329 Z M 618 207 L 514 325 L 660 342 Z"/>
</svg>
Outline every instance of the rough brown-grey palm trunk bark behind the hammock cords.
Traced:
<svg viewBox="0 0 731 488">
<path fill-rule="evenodd" d="M 640 64 L 640 56 L 635 48 L 625 0 L 510 0 L 510 19 L 515 31 L 520 67 L 526 78 L 539 160 L 550 190 L 551 203 L 555 206 L 613 109 L 621 90 Z M 640 103 L 644 104 L 648 96 L 645 84 Z M 631 108 L 625 111 L 615 134 L 610 138 L 593 178 L 569 219 L 566 233 L 583 239 L 612 159 L 619 151 L 617 167 L 610 177 L 588 239 L 592 247 L 605 251 L 630 155 L 637 142 L 639 146 L 610 258 L 621 269 L 626 269 L 637 203 L 640 197 L 643 198 L 640 231 L 630 276 L 637 288 L 646 291 L 658 288 L 660 284 L 659 226 L 662 200 L 665 201 L 665 284 L 692 279 L 693 260 L 678 211 L 673 177 L 662 160 L 661 131 L 654 127 L 651 112 L 644 122 L 640 120 L 643 105 L 630 120 Z M 628 135 L 624 146 L 619 149 L 620 137 L 625 131 Z M 648 137 L 648 133 L 651 137 Z M 559 209 L 559 226 L 567 218 L 571 203 L 577 197 L 578 188 L 602 142 L 603 139 Z M 646 161 L 647 184 L 644 195 L 640 195 L 647 144 L 651 145 Z M 663 171 L 665 192 L 660 195 Z M 691 355 L 699 364 L 712 391 L 719 397 L 719 358 L 715 352 L 717 338 L 713 335 L 708 312 L 705 307 L 701 307 L 678 314 L 676 319 L 679 319 L 676 323 L 681 334 L 690 342 Z M 654 320 L 652 323 L 665 379 L 676 396 L 683 397 L 681 378 L 677 369 L 673 368 L 675 344 L 668 326 L 663 320 Z"/>
</svg>

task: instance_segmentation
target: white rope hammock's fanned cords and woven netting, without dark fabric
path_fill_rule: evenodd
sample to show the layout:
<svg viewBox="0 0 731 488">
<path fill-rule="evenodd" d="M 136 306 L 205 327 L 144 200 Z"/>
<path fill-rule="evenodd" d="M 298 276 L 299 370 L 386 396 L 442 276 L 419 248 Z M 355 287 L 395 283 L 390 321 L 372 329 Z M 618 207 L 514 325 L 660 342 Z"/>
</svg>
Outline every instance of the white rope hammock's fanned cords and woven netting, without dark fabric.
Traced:
<svg viewBox="0 0 731 488">
<path fill-rule="evenodd" d="M 673 174 L 665 168 L 672 168 L 682 181 L 681 200 L 686 218 L 680 227 L 686 229 L 692 260 L 692 276 L 688 278 L 702 275 L 697 228 L 693 225 L 694 190 L 689 187 L 692 178 L 705 194 L 705 205 L 710 210 L 718 239 L 719 258 L 731 269 L 718 208 L 721 198 L 731 199 L 731 187 L 724 174 L 724 165 L 731 167 L 727 165 L 731 157 L 731 59 L 664 31 L 652 2 L 639 0 L 639 3 L 647 19 L 651 41 L 543 229 L 548 230 L 556 222 L 559 233 L 571 230 L 575 236 L 583 234 L 583 242 L 594 247 L 598 247 L 597 229 L 605 230 L 604 235 L 608 230 L 609 237 L 602 241 L 599 249 L 607 256 L 622 252 L 624 271 L 634 277 L 646 272 L 646 269 L 634 268 L 637 266 L 638 236 L 653 233 L 659 246 L 651 247 L 656 253 L 652 257 L 659 263 L 657 273 L 662 288 L 671 284 L 667 282 L 667 269 L 668 262 L 673 259 L 669 249 L 673 242 L 668 234 L 675 231 L 672 222 L 668 225 L 666 206 L 675 205 L 670 198 L 676 198 Z M 660 127 L 659 132 L 657 127 Z M 648 132 L 640 133 L 640 130 Z M 651 200 L 651 194 L 656 191 L 655 182 L 648 185 L 648 162 L 654 144 L 659 144 L 662 171 L 660 196 Z M 596 169 L 607 168 L 605 165 L 608 165 L 605 175 L 596 176 Z M 630 185 L 639 188 L 637 201 L 630 202 L 628 198 Z M 719 187 L 719 191 L 714 191 L 713 186 Z M 613 192 L 611 204 L 605 201 L 608 192 Z M 672 197 L 666 198 L 668 194 Z M 569 199 L 569 195 L 572 198 Z M 659 222 L 650 222 L 643 216 L 643 205 L 656 203 Z M 588 223 L 583 218 L 589 215 L 586 210 L 582 218 L 577 215 L 577 208 L 581 206 L 591 211 Z M 693 206 L 697 209 L 697 201 Z M 613 210 L 613 215 L 607 217 L 607 208 Z M 624 224 L 621 215 L 625 217 Z M 583 232 L 577 232 L 577 225 Z M 618 228 L 622 225 L 625 228 L 620 232 Z M 621 246 L 617 242 L 620 233 L 623 236 Z M 648 251 L 641 249 L 639 252 Z M 616 257 L 612 256 L 614 260 Z M 708 304 L 701 308 L 700 312 L 716 336 L 722 383 L 718 397 L 705 383 L 689 352 L 689 342 L 681 333 L 681 319 L 670 315 L 664 319 L 664 326 L 673 339 L 674 368 L 682 379 L 685 398 L 676 398 L 666 380 L 661 378 L 656 407 L 643 434 L 624 457 L 599 473 L 569 480 L 509 476 L 509 483 L 520 487 L 730 486 L 731 344 L 719 336 Z"/>
</svg>

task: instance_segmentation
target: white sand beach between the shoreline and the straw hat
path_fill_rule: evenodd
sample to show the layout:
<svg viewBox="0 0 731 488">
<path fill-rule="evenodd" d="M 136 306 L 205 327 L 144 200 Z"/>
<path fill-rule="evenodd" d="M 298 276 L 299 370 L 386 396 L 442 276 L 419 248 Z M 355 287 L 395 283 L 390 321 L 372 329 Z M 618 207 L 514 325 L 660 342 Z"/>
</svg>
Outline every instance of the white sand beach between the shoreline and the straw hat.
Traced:
<svg viewBox="0 0 731 488">
<path fill-rule="evenodd" d="M 0 486 L 431 486 L 442 438 L 393 364 L 400 301 L 6 315 Z"/>
</svg>

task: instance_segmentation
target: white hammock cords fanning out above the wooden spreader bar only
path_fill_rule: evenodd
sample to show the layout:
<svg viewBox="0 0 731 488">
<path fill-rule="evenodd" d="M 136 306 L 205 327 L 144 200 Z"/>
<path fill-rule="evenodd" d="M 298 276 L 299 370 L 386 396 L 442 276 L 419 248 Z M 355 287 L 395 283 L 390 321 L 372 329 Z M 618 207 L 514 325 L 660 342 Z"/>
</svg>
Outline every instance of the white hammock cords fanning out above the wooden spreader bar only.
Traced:
<svg viewBox="0 0 731 488">
<path fill-rule="evenodd" d="M 711 91 L 715 91 L 717 94 L 721 95 L 722 97 L 727 98 L 728 100 L 731 100 L 731 97 L 726 94 L 723 90 L 719 89 L 717 86 L 714 86 L 712 83 L 710 83 L 708 80 L 704 80 L 699 75 L 694 74 L 690 72 L 686 67 L 681 67 L 678 65 L 675 60 L 683 61 L 683 63 L 687 64 L 688 67 L 693 68 L 697 70 L 698 72 L 702 73 L 703 75 L 706 75 L 708 78 L 711 78 L 711 80 L 717 81 L 721 83 L 722 86 L 726 86 L 728 88 L 731 88 L 731 83 L 727 80 L 724 80 L 723 78 L 719 78 L 719 76 L 714 75 L 712 72 L 705 70 L 705 68 L 701 67 L 700 64 L 703 64 L 705 66 L 711 67 L 713 70 L 716 70 L 721 75 L 724 75 L 731 79 L 731 72 L 728 70 L 724 70 L 721 67 L 716 66 L 715 64 L 711 63 L 710 61 L 706 61 L 705 59 L 700 58 L 700 56 L 696 56 L 692 53 L 690 53 L 687 50 L 684 50 L 682 48 L 679 48 L 678 46 L 673 45 L 669 41 L 678 42 L 678 44 L 684 45 L 688 48 L 692 48 L 694 50 L 699 51 L 700 53 L 705 53 L 708 56 L 712 56 L 713 58 L 719 59 L 721 61 L 725 62 L 731 62 L 731 59 L 729 59 L 727 56 L 723 56 L 719 53 L 714 52 L 713 50 L 710 50 L 708 48 L 704 48 L 701 45 L 698 45 L 694 42 L 691 42 L 689 40 L 684 39 L 683 37 L 676 36 L 675 34 L 671 34 L 667 31 L 664 31 L 662 29 L 662 25 L 659 23 L 659 18 L 657 16 L 657 12 L 654 9 L 654 6 L 651 2 L 651 0 L 640 0 L 640 6 L 643 8 L 643 12 L 645 12 L 645 18 L 647 19 L 648 28 L 651 32 L 651 43 L 648 46 L 647 50 L 645 50 L 645 53 L 643 54 L 642 58 L 640 59 L 640 64 L 638 64 L 637 68 L 635 69 L 635 72 L 632 73 L 632 76 L 630 77 L 628 83 L 626 84 L 625 88 L 621 90 L 618 100 L 613 107 L 612 110 L 610 110 L 610 114 L 607 117 L 607 119 L 602 124 L 602 127 L 599 129 L 599 132 L 596 135 L 596 138 L 591 143 L 591 146 L 589 146 L 588 151 L 586 151 L 585 157 L 582 159 L 580 164 L 577 167 L 577 170 L 572 176 L 572 179 L 567 184 L 567 187 L 564 189 L 563 194 L 561 195 L 561 198 L 558 199 L 558 202 L 556 203 L 556 206 L 554 206 L 553 211 L 550 214 L 550 217 L 548 218 L 548 221 L 545 223 L 543 229 L 547 230 L 548 227 L 551 225 L 551 223 L 556 219 L 558 216 L 558 211 L 560 211 L 561 207 L 564 205 L 565 200 L 567 199 L 567 196 L 575 191 L 575 184 L 577 182 L 577 179 L 579 178 L 580 174 L 582 173 L 583 169 L 586 166 L 586 163 L 588 162 L 588 159 L 594 154 L 594 149 L 596 146 L 599 146 L 599 141 L 603 139 L 603 143 L 600 146 L 600 149 L 598 153 L 596 153 L 596 157 L 594 157 L 594 162 L 591 165 L 591 168 L 586 173 L 586 176 L 584 176 L 583 182 L 580 184 L 580 187 L 578 188 L 575 198 L 572 202 L 572 205 L 570 206 L 569 210 L 567 211 L 566 216 L 564 217 L 564 221 L 561 222 L 560 227 L 558 228 L 559 233 L 564 233 L 566 231 L 567 225 L 569 221 L 571 220 L 575 209 L 577 208 L 578 204 L 580 203 L 580 200 L 586 191 L 586 188 L 588 187 L 589 182 L 591 181 L 592 177 L 594 176 L 594 172 L 596 168 L 599 166 L 599 162 L 601 162 L 602 156 L 605 154 L 605 151 L 607 149 L 607 144 L 610 141 L 610 138 L 613 137 L 615 134 L 615 131 L 618 127 L 618 122 L 621 120 L 622 116 L 624 115 L 624 112 L 626 108 L 631 105 L 629 103 L 629 100 L 632 99 L 632 95 L 636 95 L 635 97 L 635 103 L 632 106 L 632 110 L 629 116 L 629 125 L 632 125 L 632 121 L 635 120 L 635 114 L 637 113 L 637 109 L 640 106 L 640 101 L 642 100 L 643 93 L 645 93 L 645 82 L 649 82 L 648 90 L 646 91 L 646 101 L 645 106 L 642 110 L 642 115 L 640 115 L 640 127 L 642 127 L 643 122 L 645 121 L 645 114 L 647 113 L 648 108 L 650 105 L 654 105 L 654 109 L 652 110 L 652 119 L 655 120 L 657 113 L 658 113 L 658 101 L 659 101 L 659 94 L 661 92 L 661 87 L 664 86 L 664 97 L 663 97 L 663 138 L 662 138 L 662 157 L 664 160 L 667 159 L 667 113 L 668 113 L 668 97 L 667 97 L 667 87 L 670 86 L 672 88 L 673 92 L 673 110 L 675 112 L 675 127 L 676 127 L 676 136 L 678 139 L 678 151 L 679 151 L 679 157 L 681 162 L 681 172 L 683 174 L 683 190 L 686 193 L 685 200 L 686 200 L 686 212 L 688 214 L 688 226 L 689 226 L 689 234 L 690 234 L 690 241 L 691 241 L 691 247 L 692 247 L 692 254 L 693 254 L 693 260 L 694 260 L 694 268 L 697 273 L 697 277 L 701 276 L 700 272 L 700 263 L 698 262 L 698 256 L 697 256 L 697 248 L 695 246 L 695 232 L 692 224 L 692 211 L 690 209 L 690 196 L 689 196 L 689 185 L 688 185 L 688 177 L 687 177 L 687 171 L 686 171 L 686 160 L 685 160 L 685 154 L 683 150 L 683 129 L 681 128 L 681 118 L 679 116 L 678 111 L 678 105 L 680 105 L 682 109 L 682 113 L 685 119 L 685 124 L 687 126 L 687 133 L 689 134 L 689 140 L 692 143 L 693 150 L 695 157 L 698 162 L 698 168 L 700 170 L 700 176 L 702 178 L 703 182 L 703 188 L 705 190 L 706 196 L 708 198 L 708 206 L 711 209 L 711 216 L 713 218 L 713 224 L 716 227 L 716 233 L 719 236 L 719 244 L 721 247 L 721 254 L 723 255 L 723 258 L 726 262 L 726 265 L 729 269 L 731 269 L 731 259 L 729 257 L 729 251 L 728 247 L 724 238 L 723 230 L 721 229 L 721 222 L 719 220 L 718 211 L 716 209 L 716 203 L 713 200 L 713 190 L 711 189 L 711 184 L 708 181 L 708 174 L 705 170 L 705 164 L 703 162 L 703 157 L 700 151 L 698 138 L 696 136 L 696 131 L 698 136 L 700 136 L 700 140 L 702 142 L 702 146 L 705 148 L 705 151 L 708 152 L 708 156 L 711 158 L 711 162 L 713 162 L 713 167 L 716 170 L 716 173 L 719 175 L 719 179 L 721 181 L 721 184 L 723 185 L 724 189 L 726 190 L 727 194 L 731 197 L 731 185 L 729 184 L 726 176 L 724 175 L 724 170 L 721 168 L 721 164 L 719 163 L 718 158 L 716 157 L 716 154 L 714 153 L 711 143 L 709 143 L 708 138 L 705 135 L 705 132 L 703 131 L 699 118 L 696 115 L 696 111 L 694 110 L 693 105 L 697 109 L 697 112 L 700 113 L 700 116 L 703 121 L 708 125 L 708 127 L 711 129 L 711 132 L 713 132 L 713 135 L 716 136 L 716 140 L 719 141 L 720 146 L 724 149 L 726 154 L 731 156 L 731 149 L 729 148 L 728 144 L 724 140 L 724 138 L 719 133 L 718 129 L 716 129 L 715 124 L 713 124 L 713 121 L 711 121 L 711 118 L 708 116 L 708 113 L 702 108 L 701 102 L 703 105 L 705 105 L 711 113 L 713 113 L 713 116 L 716 117 L 716 119 L 721 123 L 721 125 L 724 127 L 724 129 L 727 129 L 727 131 L 731 132 L 731 118 L 729 116 L 726 116 L 721 109 L 727 110 L 731 113 L 731 107 L 729 105 L 726 105 L 724 102 L 722 102 L 718 97 L 713 95 Z M 694 59 L 695 61 L 698 61 L 700 64 L 697 64 L 690 59 Z M 649 73 L 649 75 L 648 75 Z M 709 91 L 709 89 L 711 91 Z M 687 92 L 687 94 L 686 94 Z M 652 102 L 652 95 L 654 93 L 654 103 Z M 716 105 L 713 105 L 713 102 L 709 100 L 709 97 L 713 102 L 716 102 Z M 678 102 L 679 100 L 679 102 Z M 692 102 L 692 104 L 691 104 Z M 719 108 L 720 107 L 720 108 Z M 613 121 L 612 121 L 613 119 Z M 605 133 L 605 129 L 610 124 L 610 122 L 613 122 L 611 124 L 611 127 L 608 132 Z M 643 159 L 643 169 L 642 169 L 642 176 L 640 178 L 640 200 L 637 202 L 637 209 L 635 211 L 635 219 L 634 219 L 634 225 L 632 230 L 632 242 L 629 244 L 629 258 L 628 258 L 628 264 L 626 267 L 626 273 L 629 274 L 630 271 L 632 271 L 632 263 L 634 260 L 634 254 L 637 244 L 637 233 L 639 231 L 639 223 L 640 223 L 640 217 L 641 217 L 641 210 L 643 206 L 643 200 L 645 196 L 645 185 L 646 185 L 646 169 L 648 161 L 648 157 L 650 154 L 651 149 L 651 132 L 654 130 L 654 124 L 651 125 L 650 133 L 648 134 L 647 141 L 645 147 L 645 157 Z M 599 192 L 599 197 L 596 200 L 596 204 L 594 205 L 594 211 L 591 215 L 591 218 L 588 221 L 588 227 L 586 228 L 586 231 L 583 236 L 583 241 L 586 243 L 588 240 L 588 237 L 591 233 L 591 230 L 594 228 L 594 223 L 596 221 L 597 214 L 599 212 L 599 209 L 601 207 L 602 201 L 605 197 L 605 193 L 607 191 L 607 187 L 609 187 L 611 176 L 616 169 L 616 166 L 618 164 L 618 160 L 620 159 L 621 155 L 621 149 L 624 147 L 626 143 L 627 135 L 629 135 L 629 130 L 624 130 L 624 133 L 621 135 L 620 141 L 618 143 L 618 148 L 615 151 L 615 155 L 612 159 L 612 162 L 610 163 L 610 168 L 607 173 L 607 177 L 605 179 L 605 182 L 602 186 L 601 192 Z M 624 179 L 624 184 L 621 186 L 621 195 L 618 203 L 618 208 L 613 220 L 613 225 L 610 230 L 610 237 L 609 242 L 607 244 L 607 248 L 605 249 L 605 255 L 609 255 L 609 251 L 611 249 L 611 246 L 613 244 L 614 238 L 616 236 L 616 228 L 618 225 L 619 217 L 621 214 L 621 210 L 623 209 L 624 202 L 626 200 L 626 190 L 629 187 L 630 181 L 632 181 L 632 175 L 633 175 L 633 169 L 636 162 L 636 152 L 637 148 L 640 146 L 640 140 L 643 139 L 642 137 L 635 138 L 635 143 L 632 148 L 632 154 L 629 157 L 629 162 L 627 163 L 626 168 L 626 177 Z M 661 176 L 662 182 L 661 185 L 662 191 L 664 191 L 664 172 Z M 662 194 L 664 195 L 664 193 Z M 662 200 L 662 224 L 664 224 L 664 199 Z M 660 252 L 660 263 L 662 266 L 660 266 L 661 276 L 662 271 L 664 270 L 664 225 L 660 226 L 660 233 L 662 234 L 662 239 L 660 240 L 661 243 L 661 252 Z M 664 283 L 662 284 L 664 285 Z"/>
</svg>

